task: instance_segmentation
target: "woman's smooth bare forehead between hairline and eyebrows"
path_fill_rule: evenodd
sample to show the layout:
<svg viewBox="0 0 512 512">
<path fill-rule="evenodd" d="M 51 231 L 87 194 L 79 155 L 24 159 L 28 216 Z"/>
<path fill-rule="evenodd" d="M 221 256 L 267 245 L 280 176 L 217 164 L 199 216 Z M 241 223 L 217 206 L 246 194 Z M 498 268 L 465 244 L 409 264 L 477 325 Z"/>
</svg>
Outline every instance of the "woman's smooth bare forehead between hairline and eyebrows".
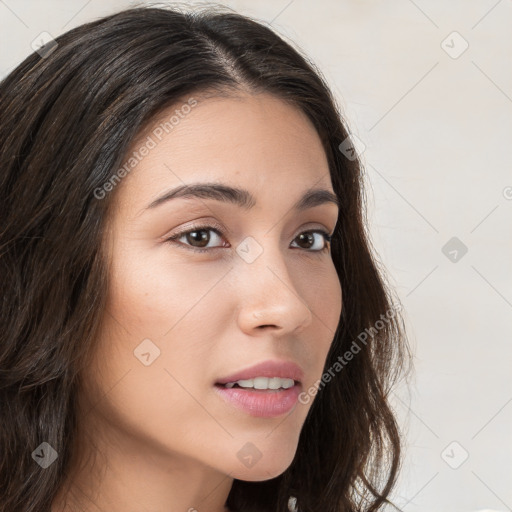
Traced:
<svg viewBox="0 0 512 512">
<path fill-rule="evenodd" d="M 330 183 L 314 127 L 300 110 L 271 95 L 173 106 L 137 143 L 125 158 L 130 176 L 123 179 L 129 183 L 119 191 L 137 203 L 192 182 L 223 182 L 254 195 L 269 187 L 301 190 L 322 178 L 324 186 Z"/>
</svg>

